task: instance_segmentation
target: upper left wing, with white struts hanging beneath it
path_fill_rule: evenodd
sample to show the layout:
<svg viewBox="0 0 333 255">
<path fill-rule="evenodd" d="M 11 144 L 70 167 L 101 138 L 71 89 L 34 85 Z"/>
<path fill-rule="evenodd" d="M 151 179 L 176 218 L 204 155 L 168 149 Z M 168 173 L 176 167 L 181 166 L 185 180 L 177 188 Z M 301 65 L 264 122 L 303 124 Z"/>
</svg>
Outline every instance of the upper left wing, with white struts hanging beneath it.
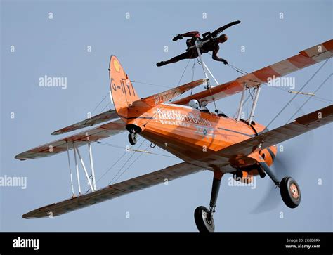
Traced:
<svg viewBox="0 0 333 255">
<path fill-rule="evenodd" d="M 89 129 L 88 131 L 83 131 L 77 133 L 73 136 L 68 136 L 60 140 L 55 140 L 54 142 L 41 145 L 37 148 L 27 150 L 19 155 L 15 156 L 15 159 L 25 160 L 25 159 L 36 159 L 39 157 L 49 157 L 60 152 L 71 150 L 73 148 L 73 142 L 76 147 L 81 145 L 86 145 L 89 142 L 96 142 L 98 140 L 114 136 L 117 133 L 122 133 L 126 131 L 125 124 L 121 119 L 115 119 L 112 122 L 97 126 L 94 129 Z"/>
</svg>

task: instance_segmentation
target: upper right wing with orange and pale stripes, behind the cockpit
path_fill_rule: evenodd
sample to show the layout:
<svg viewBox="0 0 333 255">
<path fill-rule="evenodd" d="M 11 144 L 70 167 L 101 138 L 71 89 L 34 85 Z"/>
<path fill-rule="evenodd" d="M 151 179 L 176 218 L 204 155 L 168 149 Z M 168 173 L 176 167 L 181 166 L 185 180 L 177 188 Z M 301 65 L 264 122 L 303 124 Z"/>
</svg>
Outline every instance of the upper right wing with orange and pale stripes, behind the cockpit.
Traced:
<svg viewBox="0 0 333 255">
<path fill-rule="evenodd" d="M 273 65 L 268 65 L 267 67 L 263 67 L 250 74 L 246 74 L 233 81 L 176 100 L 174 103 L 178 105 L 187 105 L 192 99 L 211 103 L 213 100 L 218 100 L 241 92 L 245 84 L 247 88 L 250 89 L 254 86 L 265 84 L 271 79 L 282 77 L 291 72 L 301 70 L 304 67 L 319 63 L 322 60 L 331 58 L 332 55 L 333 39 L 301 51 L 298 55 L 294 55 L 291 58 L 287 58 L 286 60 L 282 60 Z"/>
</svg>

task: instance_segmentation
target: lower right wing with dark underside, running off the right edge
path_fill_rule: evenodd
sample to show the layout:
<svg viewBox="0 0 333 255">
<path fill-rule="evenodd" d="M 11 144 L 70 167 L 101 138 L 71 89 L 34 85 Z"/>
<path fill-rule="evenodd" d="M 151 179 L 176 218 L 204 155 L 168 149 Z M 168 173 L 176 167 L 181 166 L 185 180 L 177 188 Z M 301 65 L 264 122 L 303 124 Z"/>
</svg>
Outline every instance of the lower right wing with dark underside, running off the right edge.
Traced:
<svg viewBox="0 0 333 255">
<path fill-rule="evenodd" d="M 220 150 L 218 153 L 227 158 L 249 155 L 255 150 L 268 148 L 295 136 L 299 136 L 302 133 L 311 131 L 312 129 L 329 124 L 330 122 L 333 122 L 333 105 L 303 115 L 296 118 L 294 122 L 266 131 L 254 138 L 249 138 L 240 143 L 230 145 L 229 147 Z"/>
</svg>

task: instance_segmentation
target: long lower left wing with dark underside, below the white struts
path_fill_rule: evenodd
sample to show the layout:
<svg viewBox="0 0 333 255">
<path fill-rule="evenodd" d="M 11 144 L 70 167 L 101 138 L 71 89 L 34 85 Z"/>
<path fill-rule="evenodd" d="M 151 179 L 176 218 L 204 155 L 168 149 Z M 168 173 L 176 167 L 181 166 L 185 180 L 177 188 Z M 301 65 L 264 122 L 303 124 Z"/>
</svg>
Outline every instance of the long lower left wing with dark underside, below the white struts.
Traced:
<svg viewBox="0 0 333 255">
<path fill-rule="evenodd" d="M 62 202 L 49 204 L 45 207 L 35 209 L 22 215 L 22 218 L 44 218 L 51 216 L 59 216 L 61 214 L 66 214 L 70 211 L 75 211 L 84 207 L 89 207 L 90 205 L 104 202 L 105 200 L 111 200 L 115 197 L 120 197 L 131 192 L 142 190 L 144 188 L 149 188 L 153 185 L 159 183 L 164 183 L 167 179 L 168 181 L 193 174 L 197 171 L 202 171 L 202 167 L 195 166 L 188 163 L 175 164 L 173 166 L 168 166 L 162 170 L 154 171 L 150 174 L 145 174 L 143 176 L 138 176 L 121 183 L 116 183 L 107 186 L 101 190 L 95 192 L 90 192 L 86 195 L 81 195 L 78 197 L 70 198 L 69 200 L 64 200 Z"/>
</svg>

